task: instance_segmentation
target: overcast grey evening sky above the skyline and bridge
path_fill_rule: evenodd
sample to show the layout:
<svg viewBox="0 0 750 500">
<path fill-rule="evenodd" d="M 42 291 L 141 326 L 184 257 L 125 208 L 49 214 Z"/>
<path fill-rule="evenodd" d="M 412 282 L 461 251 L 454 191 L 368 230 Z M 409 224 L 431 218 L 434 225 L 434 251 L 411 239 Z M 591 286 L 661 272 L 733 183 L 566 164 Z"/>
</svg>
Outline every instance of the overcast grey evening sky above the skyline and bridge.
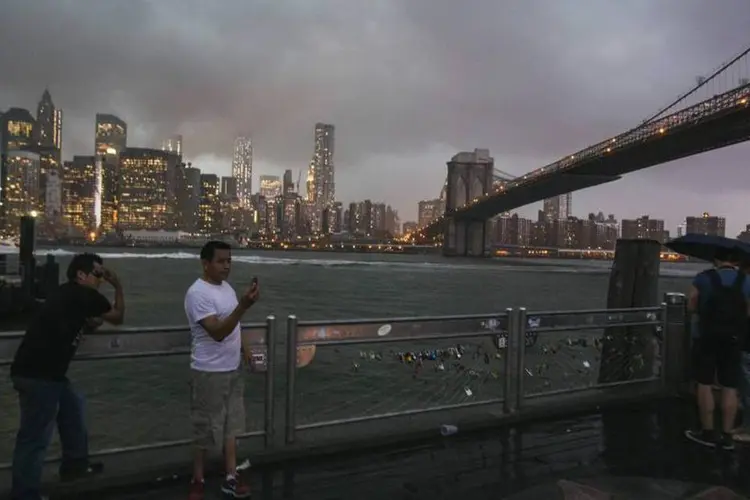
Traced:
<svg viewBox="0 0 750 500">
<path fill-rule="evenodd" d="M 445 162 L 489 148 L 520 175 L 622 132 L 750 44 L 747 0 L 3 0 L 0 109 L 63 109 L 63 155 L 92 154 L 94 115 L 131 146 L 184 136 L 228 175 L 253 139 L 261 174 L 306 169 L 315 122 L 336 126 L 336 194 L 416 216 Z M 708 97 L 750 77 L 736 66 Z M 573 211 L 703 211 L 750 223 L 750 146 L 573 194 Z M 304 174 L 303 174 L 304 181 Z M 538 204 L 519 212 L 532 216 Z"/>
</svg>

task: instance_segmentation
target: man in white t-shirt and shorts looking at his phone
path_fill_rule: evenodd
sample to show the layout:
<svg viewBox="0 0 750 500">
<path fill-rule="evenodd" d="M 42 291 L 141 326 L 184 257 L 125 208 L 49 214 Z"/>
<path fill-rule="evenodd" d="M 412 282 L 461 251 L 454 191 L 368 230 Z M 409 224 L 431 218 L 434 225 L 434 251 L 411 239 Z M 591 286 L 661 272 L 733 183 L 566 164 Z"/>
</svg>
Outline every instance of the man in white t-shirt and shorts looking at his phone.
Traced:
<svg viewBox="0 0 750 500">
<path fill-rule="evenodd" d="M 203 276 L 185 295 L 192 336 L 190 418 L 196 446 L 188 498 L 203 500 L 206 451 L 220 445 L 224 447 L 226 467 L 222 492 L 233 498 L 248 498 L 250 488 L 237 475 L 236 436 L 245 431 L 240 320 L 257 302 L 260 290 L 254 279 L 252 287 L 237 300 L 234 288 L 226 282 L 232 264 L 228 244 L 209 241 L 201 249 L 200 258 Z"/>
</svg>

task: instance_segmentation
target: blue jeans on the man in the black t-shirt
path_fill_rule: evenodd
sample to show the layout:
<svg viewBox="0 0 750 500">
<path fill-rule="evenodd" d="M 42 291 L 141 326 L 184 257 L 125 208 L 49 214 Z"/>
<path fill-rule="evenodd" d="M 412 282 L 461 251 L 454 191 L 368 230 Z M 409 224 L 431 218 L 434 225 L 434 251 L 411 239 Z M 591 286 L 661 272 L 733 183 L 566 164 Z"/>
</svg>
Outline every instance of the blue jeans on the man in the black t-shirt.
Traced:
<svg viewBox="0 0 750 500">
<path fill-rule="evenodd" d="M 88 432 L 83 397 L 69 381 L 13 377 L 21 407 L 21 425 L 13 450 L 13 500 L 38 500 L 44 456 L 57 423 L 63 450 L 61 467 L 88 460 Z"/>
</svg>

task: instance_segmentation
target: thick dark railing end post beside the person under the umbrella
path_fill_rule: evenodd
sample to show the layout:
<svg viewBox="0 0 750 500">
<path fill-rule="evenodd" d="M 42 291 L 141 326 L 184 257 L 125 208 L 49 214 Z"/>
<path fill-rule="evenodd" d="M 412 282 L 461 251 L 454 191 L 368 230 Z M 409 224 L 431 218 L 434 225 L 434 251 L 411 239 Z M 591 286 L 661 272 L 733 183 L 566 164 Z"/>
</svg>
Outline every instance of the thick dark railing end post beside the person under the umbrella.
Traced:
<svg viewBox="0 0 750 500">
<path fill-rule="evenodd" d="M 676 391 L 688 379 L 690 335 L 687 297 L 682 293 L 665 293 L 662 331 L 662 381 L 665 389 Z"/>
</svg>

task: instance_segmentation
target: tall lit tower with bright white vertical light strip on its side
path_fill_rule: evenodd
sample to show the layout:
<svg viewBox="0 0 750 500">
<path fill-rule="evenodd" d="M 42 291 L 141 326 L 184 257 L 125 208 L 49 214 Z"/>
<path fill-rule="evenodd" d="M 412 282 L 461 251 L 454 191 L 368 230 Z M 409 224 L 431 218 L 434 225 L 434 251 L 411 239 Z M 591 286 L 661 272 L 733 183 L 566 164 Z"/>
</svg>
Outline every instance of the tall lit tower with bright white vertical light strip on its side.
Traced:
<svg viewBox="0 0 750 500">
<path fill-rule="evenodd" d="M 128 125 L 114 115 L 96 114 L 96 218 L 99 229 L 109 232 L 118 221 L 120 153 L 127 147 Z"/>
</svg>

